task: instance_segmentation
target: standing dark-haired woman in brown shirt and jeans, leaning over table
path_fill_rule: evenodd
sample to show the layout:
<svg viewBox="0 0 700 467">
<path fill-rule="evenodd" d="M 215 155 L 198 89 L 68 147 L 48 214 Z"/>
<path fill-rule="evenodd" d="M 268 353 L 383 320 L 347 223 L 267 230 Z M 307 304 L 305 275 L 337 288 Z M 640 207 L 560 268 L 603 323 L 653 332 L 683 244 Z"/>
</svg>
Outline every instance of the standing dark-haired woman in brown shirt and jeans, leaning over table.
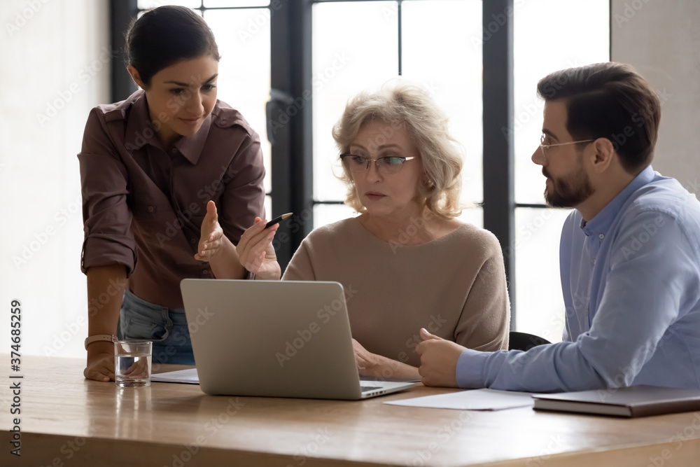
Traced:
<svg viewBox="0 0 700 467">
<path fill-rule="evenodd" d="M 260 137 L 216 99 L 220 57 L 207 23 L 190 8 L 155 8 L 132 22 L 125 53 L 141 89 L 92 109 L 78 154 L 84 374 L 98 381 L 114 379 L 113 335 L 153 340 L 154 363 L 194 364 L 182 279 L 280 276 Z M 200 239 L 207 212 L 220 227 Z M 235 260 L 211 258 L 220 248 Z"/>
</svg>

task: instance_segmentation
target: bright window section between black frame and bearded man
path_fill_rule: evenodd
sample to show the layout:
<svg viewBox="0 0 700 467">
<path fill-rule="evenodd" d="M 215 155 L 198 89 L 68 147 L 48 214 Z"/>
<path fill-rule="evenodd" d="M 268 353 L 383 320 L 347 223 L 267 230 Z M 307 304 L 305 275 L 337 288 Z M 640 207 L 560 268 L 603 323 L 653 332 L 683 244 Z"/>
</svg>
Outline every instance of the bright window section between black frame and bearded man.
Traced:
<svg viewBox="0 0 700 467">
<path fill-rule="evenodd" d="M 570 209 L 544 206 L 538 150 L 544 101 L 537 82 L 552 71 L 610 60 L 608 0 L 514 1 L 515 276 L 517 330 L 561 340 L 559 235 Z M 575 18 L 575 20 L 574 20 Z M 540 204 L 542 207 L 537 207 Z"/>
</svg>

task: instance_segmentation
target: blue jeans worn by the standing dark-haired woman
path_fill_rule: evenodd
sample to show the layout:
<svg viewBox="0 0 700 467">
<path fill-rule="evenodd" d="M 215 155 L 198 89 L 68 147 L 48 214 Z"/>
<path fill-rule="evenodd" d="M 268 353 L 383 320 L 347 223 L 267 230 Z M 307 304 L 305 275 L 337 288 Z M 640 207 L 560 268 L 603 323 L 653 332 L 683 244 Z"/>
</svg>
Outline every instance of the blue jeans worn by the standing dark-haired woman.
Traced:
<svg viewBox="0 0 700 467">
<path fill-rule="evenodd" d="M 127 290 L 119 312 L 117 337 L 152 340 L 153 365 L 195 364 L 190 330 L 183 308 L 154 305 Z"/>
</svg>

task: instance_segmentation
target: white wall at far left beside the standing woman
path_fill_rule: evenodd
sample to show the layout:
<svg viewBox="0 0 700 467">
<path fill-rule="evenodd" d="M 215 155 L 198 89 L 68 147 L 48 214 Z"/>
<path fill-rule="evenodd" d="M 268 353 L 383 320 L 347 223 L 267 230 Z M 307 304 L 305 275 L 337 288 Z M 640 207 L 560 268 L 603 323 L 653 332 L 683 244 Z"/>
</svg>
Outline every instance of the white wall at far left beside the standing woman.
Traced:
<svg viewBox="0 0 700 467">
<path fill-rule="evenodd" d="M 0 1 L 0 353 L 16 298 L 22 354 L 85 355 L 76 155 L 109 102 L 108 20 L 107 0 Z"/>
</svg>

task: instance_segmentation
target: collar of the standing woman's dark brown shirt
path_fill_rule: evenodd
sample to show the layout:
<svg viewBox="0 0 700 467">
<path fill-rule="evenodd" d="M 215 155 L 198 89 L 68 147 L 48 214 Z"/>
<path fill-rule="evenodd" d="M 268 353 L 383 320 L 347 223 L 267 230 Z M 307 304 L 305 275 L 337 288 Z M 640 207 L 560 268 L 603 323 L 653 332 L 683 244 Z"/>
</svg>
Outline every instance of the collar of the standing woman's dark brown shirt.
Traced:
<svg viewBox="0 0 700 467">
<path fill-rule="evenodd" d="M 150 144 L 155 148 L 165 151 L 158 136 L 155 134 L 155 128 L 151 123 L 148 115 L 148 104 L 146 102 L 146 93 L 141 90 L 141 94 L 134 100 L 127 120 L 127 130 L 125 135 L 125 144 L 134 148 L 140 149 L 146 144 Z M 185 156 L 192 164 L 196 164 L 200 160 L 204 144 L 209 136 L 209 128 L 211 127 L 211 113 L 204 118 L 202 127 L 197 133 L 191 137 L 181 137 L 175 143 L 175 148 Z M 129 148 L 130 146 L 127 146 Z"/>
</svg>

